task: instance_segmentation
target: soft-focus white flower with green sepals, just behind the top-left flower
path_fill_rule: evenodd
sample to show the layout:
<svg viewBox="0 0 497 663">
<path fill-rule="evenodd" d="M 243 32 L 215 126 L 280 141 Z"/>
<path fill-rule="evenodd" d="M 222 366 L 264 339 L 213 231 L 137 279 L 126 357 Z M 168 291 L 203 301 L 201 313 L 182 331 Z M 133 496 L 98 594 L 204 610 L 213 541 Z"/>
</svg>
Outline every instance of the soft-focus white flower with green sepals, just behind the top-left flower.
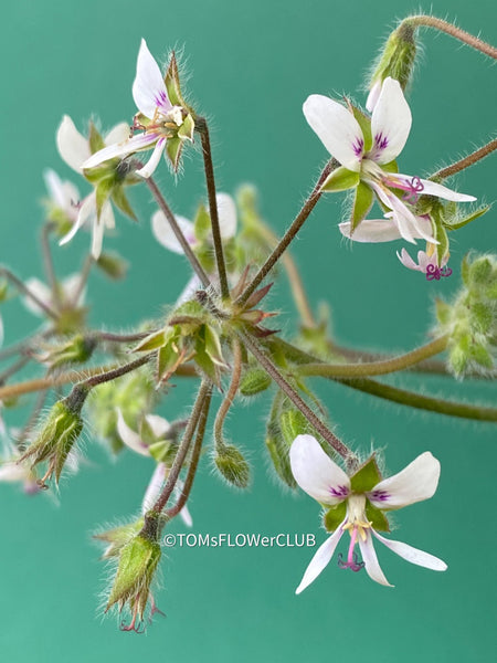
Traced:
<svg viewBox="0 0 497 663">
<path fill-rule="evenodd" d="M 120 160 L 114 159 L 105 167 L 87 170 L 83 168 L 92 154 L 99 150 L 105 145 L 125 140 L 129 135 L 129 127 L 126 123 L 116 125 L 103 138 L 97 131 L 95 125 L 91 123 L 88 138 L 85 138 L 76 129 L 74 122 L 68 115 L 64 115 L 56 134 L 57 149 L 64 161 L 80 175 L 83 175 L 94 187 L 92 193 L 82 201 L 76 201 L 77 217 L 71 228 L 61 240 L 60 244 L 70 242 L 76 232 L 84 225 L 92 229 L 92 255 L 98 260 L 102 253 L 102 244 L 105 230 L 115 228 L 113 207 L 114 202 L 119 210 L 135 220 L 135 214 L 124 192 L 124 187 L 137 182 L 133 173 L 126 168 L 120 167 Z M 52 178 L 52 185 L 53 185 Z"/>
</svg>

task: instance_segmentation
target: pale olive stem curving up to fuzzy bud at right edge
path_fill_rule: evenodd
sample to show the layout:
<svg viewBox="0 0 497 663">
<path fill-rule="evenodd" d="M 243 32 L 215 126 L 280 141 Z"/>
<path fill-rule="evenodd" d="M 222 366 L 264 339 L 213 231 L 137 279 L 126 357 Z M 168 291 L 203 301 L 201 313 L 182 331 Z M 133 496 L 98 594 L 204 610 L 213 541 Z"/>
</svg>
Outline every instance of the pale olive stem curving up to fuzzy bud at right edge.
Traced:
<svg viewBox="0 0 497 663">
<path fill-rule="evenodd" d="M 359 378 L 364 376 L 382 376 L 412 366 L 443 352 L 447 347 L 447 336 L 440 336 L 411 352 L 384 359 L 382 361 L 366 361 L 363 364 L 305 364 L 299 368 L 302 376 L 321 376 L 327 378 Z"/>
</svg>

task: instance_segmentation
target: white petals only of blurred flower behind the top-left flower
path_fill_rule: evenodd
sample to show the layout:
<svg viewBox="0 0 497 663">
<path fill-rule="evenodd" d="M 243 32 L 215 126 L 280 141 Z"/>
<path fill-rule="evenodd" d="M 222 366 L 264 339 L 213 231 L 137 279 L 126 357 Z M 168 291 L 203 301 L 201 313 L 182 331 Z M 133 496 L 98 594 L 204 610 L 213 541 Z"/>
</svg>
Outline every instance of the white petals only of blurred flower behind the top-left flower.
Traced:
<svg viewBox="0 0 497 663">
<path fill-rule="evenodd" d="M 116 140 L 124 140 L 129 135 L 129 127 L 126 123 L 116 125 L 104 138 L 106 145 Z M 56 144 L 59 154 L 64 161 L 80 175 L 83 173 L 83 164 L 91 155 L 89 140 L 87 140 L 76 129 L 74 122 L 68 115 L 64 115 L 56 134 Z M 97 189 L 86 196 L 77 206 L 77 218 L 71 231 L 62 238 L 60 244 L 70 242 L 76 232 L 83 225 L 92 228 L 92 255 L 98 260 L 102 253 L 104 232 L 106 229 L 114 229 L 116 225 L 113 207 L 109 197 L 97 204 Z"/>
</svg>

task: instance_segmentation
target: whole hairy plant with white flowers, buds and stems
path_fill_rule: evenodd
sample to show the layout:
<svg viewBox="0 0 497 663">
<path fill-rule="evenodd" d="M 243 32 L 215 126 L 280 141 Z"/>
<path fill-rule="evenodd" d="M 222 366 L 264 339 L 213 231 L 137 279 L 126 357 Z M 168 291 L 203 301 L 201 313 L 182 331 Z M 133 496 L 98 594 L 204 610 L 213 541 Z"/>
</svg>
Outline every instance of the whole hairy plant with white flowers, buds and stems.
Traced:
<svg viewBox="0 0 497 663">
<path fill-rule="evenodd" d="M 103 557 L 114 565 L 105 611 L 121 615 L 124 631 L 141 632 L 147 619 L 160 612 L 156 588 L 161 536 L 177 516 L 181 526 L 193 527 L 189 498 L 199 467 L 210 463 L 214 474 L 233 488 L 250 486 L 250 457 L 256 452 L 245 453 L 244 445 L 262 443 L 281 484 L 290 491 L 302 488 L 322 508 L 329 536 L 311 558 L 297 593 L 334 557 L 340 568 L 364 569 L 376 582 L 390 586 L 377 556 L 378 541 L 411 564 L 437 571 L 447 568 L 437 557 L 391 538 L 389 525 L 390 512 L 434 495 L 440 462 L 425 451 L 401 472 L 382 476 L 376 455 L 361 464 L 360 454 L 336 434 L 331 417 L 340 419 L 338 390 L 353 389 L 404 408 L 495 423 L 495 408 L 429 394 L 422 379 L 417 388 L 406 389 L 384 382 L 383 376 L 412 371 L 410 383 L 425 371 L 459 380 L 496 377 L 496 256 L 467 255 L 459 292 L 436 301 L 437 325 L 426 343 L 395 355 L 340 343 L 330 332 L 328 307 L 315 311 L 288 252 L 320 199 L 328 192 L 348 191 L 350 215 L 338 223 L 341 235 L 367 244 L 416 244 L 416 255 L 403 245 L 396 255 L 403 265 L 424 274 L 432 286 L 451 274 L 458 277 L 451 233 L 489 207 L 468 208 L 466 203 L 475 197 L 445 186 L 445 180 L 480 162 L 497 149 L 497 140 L 429 176 L 421 177 L 409 166 L 405 171 L 413 175 L 399 169 L 412 124 L 404 91 L 421 25 L 437 27 L 497 59 L 491 45 L 469 39 L 444 21 L 410 17 L 389 38 L 373 70 L 367 110 L 348 97 L 308 96 L 304 115 L 329 159 L 282 238 L 266 223 L 254 187 L 244 185 L 234 194 L 218 189 L 209 123 L 188 103 L 175 54 L 162 70 L 141 41 L 131 87 L 137 113 L 129 124 L 120 123 L 105 133 L 92 122 L 83 135 L 71 117 L 63 116 L 56 131 L 59 152 L 84 181 L 75 186 L 55 170 L 44 172 L 50 197 L 40 233 L 44 277 L 21 278 L 0 265 L 0 341 L 4 314 L 17 295 L 42 319 L 20 336 L 22 340 L 9 341 L 0 350 L 0 362 L 4 362 L 0 371 L 0 482 L 19 482 L 31 495 L 50 492 L 62 484 L 68 470 L 84 469 L 81 461 L 86 451 L 81 440 L 85 435 L 97 438 L 112 455 L 133 453 L 137 466 L 148 465 L 136 512 L 95 535 L 105 545 Z M 308 92 L 303 90 L 303 97 Z M 192 196 L 188 209 L 176 210 L 154 175 L 166 161 L 177 179 L 188 146 L 195 147 L 192 158 L 202 160 L 205 190 Z M 184 171 L 188 175 L 187 165 Z M 129 187 L 138 185 L 148 188 L 156 206 L 147 217 L 150 235 L 170 251 L 161 253 L 160 264 L 188 262 L 191 273 L 173 283 L 142 280 L 140 292 L 172 288 L 172 302 L 163 309 L 155 305 L 150 318 L 139 324 L 130 313 L 128 328 L 113 330 L 108 320 L 97 324 L 91 315 L 93 271 L 116 282 L 127 275 L 127 261 L 104 250 L 104 235 L 117 231 L 116 210 L 141 221 L 128 198 Z M 87 191 L 80 196 L 82 186 Z M 379 212 L 372 211 L 373 204 Z M 83 228 L 92 233 L 89 251 L 80 269 L 75 265 L 68 277 L 61 276 L 52 255 L 54 245 L 76 243 Z M 340 248 L 318 246 L 316 260 L 320 251 L 328 257 L 331 250 Z M 391 265 L 381 269 L 387 272 Z M 360 277 L 352 272 L 355 278 Z M 176 265 L 171 273 L 176 274 Z M 271 299 L 277 292 L 274 281 L 283 275 L 297 313 L 290 319 L 287 307 L 276 314 L 277 305 Z M 360 291 L 355 296 L 360 297 Z M 126 308 L 126 295 L 118 297 Z M 392 320 L 403 305 L 402 298 L 395 302 Z M 269 324 L 273 318 L 277 322 Z M 8 319 L 6 334 L 9 339 Z M 310 378 L 336 385 L 329 414 Z M 193 403 L 189 400 L 175 412 L 168 394 L 183 380 L 192 386 Z M 242 400 L 256 403 L 254 428 L 233 441 L 226 422 Z M 30 404 L 31 411 L 24 425 L 15 428 L 9 421 L 10 410 L 21 404 Z M 159 413 L 161 408 L 168 409 L 168 419 Z M 265 439 L 256 432 L 261 413 L 266 415 Z M 366 419 L 367 413 L 364 404 L 360 415 Z M 211 440 L 210 452 L 204 453 Z M 406 452 L 406 457 L 412 455 Z M 199 526 L 200 511 L 194 511 L 194 526 Z M 328 581 L 332 581 L 331 573 Z"/>
</svg>

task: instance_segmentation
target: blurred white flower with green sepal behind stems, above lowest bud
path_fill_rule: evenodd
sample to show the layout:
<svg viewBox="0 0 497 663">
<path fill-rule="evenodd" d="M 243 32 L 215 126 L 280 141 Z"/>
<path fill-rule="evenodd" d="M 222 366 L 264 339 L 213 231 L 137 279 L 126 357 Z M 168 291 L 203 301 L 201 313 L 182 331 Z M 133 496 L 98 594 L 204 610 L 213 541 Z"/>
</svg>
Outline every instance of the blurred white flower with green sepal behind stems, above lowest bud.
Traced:
<svg viewBox="0 0 497 663">
<path fill-rule="evenodd" d="M 123 412 L 117 410 L 117 432 L 119 433 L 119 436 L 126 446 L 131 449 L 135 453 L 154 457 L 158 461 L 141 503 L 142 515 L 145 515 L 156 503 L 169 474 L 170 459 L 168 457 L 168 451 L 171 446 L 170 431 L 171 425 L 166 419 L 163 419 L 163 417 L 159 417 L 158 414 L 146 414 L 140 434 L 129 428 L 125 421 L 125 418 L 123 417 Z M 144 439 L 146 436 L 148 438 L 147 440 Z M 166 457 L 169 460 L 169 462 L 159 460 Z M 178 478 L 173 495 L 179 497 L 182 490 L 183 482 Z M 193 525 L 193 520 L 187 505 L 183 506 L 179 515 L 187 527 L 191 527 Z"/>
</svg>

